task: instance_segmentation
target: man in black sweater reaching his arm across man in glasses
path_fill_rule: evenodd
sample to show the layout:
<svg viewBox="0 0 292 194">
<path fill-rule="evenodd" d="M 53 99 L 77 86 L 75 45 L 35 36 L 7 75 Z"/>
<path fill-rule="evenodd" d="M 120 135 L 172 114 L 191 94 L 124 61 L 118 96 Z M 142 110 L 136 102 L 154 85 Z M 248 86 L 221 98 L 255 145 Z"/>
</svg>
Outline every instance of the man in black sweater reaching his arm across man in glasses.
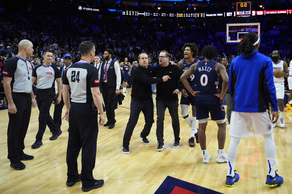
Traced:
<svg viewBox="0 0 292 194">
<path fill-rule="evenodd" d="M 141 53 L 138 56 L 138 59 L 140 66 L 138 66 L 132 74 L 133 85 L 131 94 L 130 118 L 123 137 L 124 154 L 130 153 L 130 139 L 141 111 L 145 117 L 145 125 L 140 134 L 140 139 L 144 144 L 149 144 L 149 141 L 146 137 L 149 135 L 152 124 L 154 123 L 151 84 L 166 82 L 168 79 L 170 79 L 168 75 L 164 75 L 161 78 L 153 78 L 153 69 L 151 67 L 148 68 L 148 55 L 146 53 Z"/>
</svg>

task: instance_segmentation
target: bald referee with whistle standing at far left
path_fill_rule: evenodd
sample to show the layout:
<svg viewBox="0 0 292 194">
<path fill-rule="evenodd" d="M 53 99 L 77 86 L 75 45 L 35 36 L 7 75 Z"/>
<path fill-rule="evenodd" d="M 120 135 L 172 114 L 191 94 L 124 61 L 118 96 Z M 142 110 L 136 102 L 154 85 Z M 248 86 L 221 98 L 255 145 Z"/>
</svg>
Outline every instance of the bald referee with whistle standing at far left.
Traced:
<svg viewBox="0 0 292 194">
<path fill-rule="evenodd" d="M 3 86 L 8 101 L 9 123 L 7 129 L 7 147 L 10 167 L 25 169 L 20 160 L 32 160 L 34 157 L 23 152 L 24 138 L 30 122 L 31 108 L 36 107 L 31 85 L 33 68 L 26 57 L 33 54 L 33 43 L 22 40 L 18 44 L 19 52 L 9 59 L 3 69 Z"/>
</svg>

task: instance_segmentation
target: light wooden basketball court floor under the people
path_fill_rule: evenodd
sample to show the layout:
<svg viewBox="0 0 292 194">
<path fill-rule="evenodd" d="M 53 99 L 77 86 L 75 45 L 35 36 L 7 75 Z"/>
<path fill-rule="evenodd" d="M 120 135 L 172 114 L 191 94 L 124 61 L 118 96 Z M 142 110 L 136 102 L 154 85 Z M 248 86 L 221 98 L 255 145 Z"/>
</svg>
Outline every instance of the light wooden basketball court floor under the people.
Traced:
<svg viewBox="0 0 292 194">
<path fill-rule="evenodd" d="M 218 143 L 217 125 L 213 121 L 208 121 L 206 132 L 207 150 L 211 156 L 208 164 L 202 163 L 200 145 L 189 147 L 190 128 L 181 117 L 179 118 L 180 146 L 178 148 L 172 147 L 174 136 L 171 118 L 168 116 L 167 110 L 164 122 L 164 149 L 161 152 L 156 149 L 156 115 L 154 115 L 155 123 L 148 136 L 150 144 L 144 145 L 139 139 L 139 134 L 144 126 L 144 116 L 141 113 L 130 141 L 130 154 L 123 154 L 121 145 L 130 114 L 131 92 L 130 89 L 127 90 L 129 93 L 125 94 L 123 105 L 116 109 L 115 128 L 108 129 L 108 127 L 99 126 L 93 176 L 95 179 L 104 179 L 105 183 L 103 187 L 88 193 L 152 194 L 167 176 L 222 193 L 292 193 L 292 110 L 284 113 L 286 127 L 274 129 L 276 169 L 278 169 L 280 176 L 283 176 L 283 185 L 275 188 L 265 185 L 268 171 L 265 141 L 262 135 L 254 135 L 251 132 L 251 136 L 242 139 L 238 146 L 235 169 L 240 175 L 240 180 L 234 187 L 230 188 L 224 185 L 227 164 L 215 161 Z M 54 105 L 52 104 L 50 114 L 53 115 L 53 112 Z M 38 114 L 37 108 L 32 109 L 30 125 L 24 141 L 26 146 L 24 152 L 35 158 L 31 161 L 23 161 L 26 169 L 16 171 L 10 168 L 7 159 L 8 113 L 7 110 L 0 111 L 0 193 L 83 193 L 81 182 L 73 187 L 65 185 L 67 179 L 68 122 L 63 121 L 61 126 L 63 133 L 58 139 L 50 141 L 51 133 L 47 128 L 43 135 L 43 146 L 39 149 L 30 147 L 35 141 L 38 129 Z M 191 108 L 189 108 L 189 114 L 191 115 Z M 230 142 L 228 131 L 229 126 L 227 125 L 226 152 L 228 152 Z M 78 169 L 80 173 L 81 154 L 78 158 Z"/>
</svg>

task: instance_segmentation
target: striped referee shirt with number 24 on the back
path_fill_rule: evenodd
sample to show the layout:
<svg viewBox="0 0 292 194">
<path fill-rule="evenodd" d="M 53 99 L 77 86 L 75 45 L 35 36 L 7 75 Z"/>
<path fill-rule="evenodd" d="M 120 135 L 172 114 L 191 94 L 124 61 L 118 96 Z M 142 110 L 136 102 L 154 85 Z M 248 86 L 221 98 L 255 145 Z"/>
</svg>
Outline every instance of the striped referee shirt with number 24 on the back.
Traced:
<svg viewBox="0 0 292 194">
<path fill-rule="evenodd" d="M 70 85 L 71 102 L 92 102 L 92 87 L 99 86 L 97 69 L 89 63 L 74 63 L 63 76 L 63 84 Z"/>
</svg>

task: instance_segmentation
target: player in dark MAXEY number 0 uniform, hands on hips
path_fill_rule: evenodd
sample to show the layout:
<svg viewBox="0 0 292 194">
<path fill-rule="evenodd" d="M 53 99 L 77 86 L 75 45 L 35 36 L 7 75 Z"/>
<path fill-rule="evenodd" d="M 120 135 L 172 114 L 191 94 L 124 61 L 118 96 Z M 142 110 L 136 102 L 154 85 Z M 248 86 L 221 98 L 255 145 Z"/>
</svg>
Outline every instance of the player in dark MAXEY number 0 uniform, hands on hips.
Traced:
<svg viewBox="0 0 292 194">
<path fill-rule="evenodd" d="M 202 54 L 205 57 L 203 61 L 193 64 L 189 70 L 181 76 L 181 81 L 189 92 L 197 96 L 196 115 L 199 120 L 199 139 L 203 155 L 203 163 L 209 163 L 210 155 L 206 149 L 206 127 L 209 118 L 216 121 L 218 125 L 218 153 L 216 162 L 227 162 L 227 154 L 224 151 L 226 119 L 225 109 L 221 100 L 223 99 L 228 86 L 228 75 L 225 66 L 215 62 L 213 59 L 217 56 L 217 49 L 213 45 L 207 45 L 203 48 Z M 196 73 L 196 86 L 198 91 L 194 91 L 189 85 L 188 78 Z M 222 91 L 218 94 L 218 75 L 223 79 Z M 200 113 L 200 114 L 199 114 Z"/>
</svg>

